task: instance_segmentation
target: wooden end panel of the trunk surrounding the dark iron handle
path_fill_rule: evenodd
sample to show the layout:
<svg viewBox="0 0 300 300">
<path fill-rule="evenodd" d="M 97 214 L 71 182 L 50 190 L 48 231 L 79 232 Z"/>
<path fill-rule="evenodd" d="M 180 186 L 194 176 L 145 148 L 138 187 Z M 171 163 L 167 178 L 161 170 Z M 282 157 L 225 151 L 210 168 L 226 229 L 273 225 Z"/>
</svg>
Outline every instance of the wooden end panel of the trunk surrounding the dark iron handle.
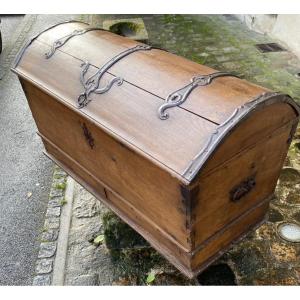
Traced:
<svg viewBox="0 0 300 300">
<path fill-rule="evenodd" d="M 289 122 L 214 172 L 200 176 L 193 211 L 195 247 L 274 192 L 292 125 L 293 122 Z M 250 177 L 255 178 L 255 186 L 239 201 L 233 202 L 230 192 Z"/>
</svg>

